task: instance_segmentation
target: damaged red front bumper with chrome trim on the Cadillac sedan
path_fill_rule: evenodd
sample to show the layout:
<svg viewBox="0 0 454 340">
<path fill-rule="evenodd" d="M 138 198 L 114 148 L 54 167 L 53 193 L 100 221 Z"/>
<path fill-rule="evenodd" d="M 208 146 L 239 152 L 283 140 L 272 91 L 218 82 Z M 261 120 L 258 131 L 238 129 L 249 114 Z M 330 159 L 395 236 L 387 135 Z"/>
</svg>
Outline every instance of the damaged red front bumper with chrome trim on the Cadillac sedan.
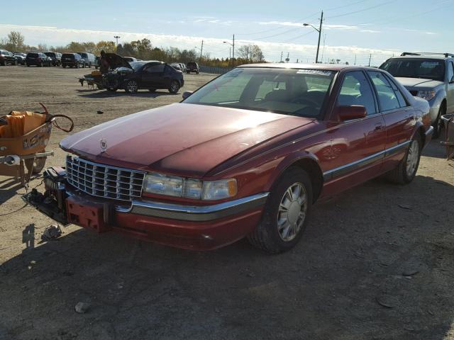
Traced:
<svg viewBox="0 0 454 340">
<path fill-rule="evenodd" d="M 72 223 L 96 232 L 121 232 L 185 249 L 216 249 L 245 237 L 260 222 L 268 196 L 259 193 L 214 205 L 145 200 L 125 204 L 77 191 L 66 182 L 62 169 L 57 170 L 45 171 L 44 194 L 34 190 L 23 199 L 64 225 Z"/>
</svg>

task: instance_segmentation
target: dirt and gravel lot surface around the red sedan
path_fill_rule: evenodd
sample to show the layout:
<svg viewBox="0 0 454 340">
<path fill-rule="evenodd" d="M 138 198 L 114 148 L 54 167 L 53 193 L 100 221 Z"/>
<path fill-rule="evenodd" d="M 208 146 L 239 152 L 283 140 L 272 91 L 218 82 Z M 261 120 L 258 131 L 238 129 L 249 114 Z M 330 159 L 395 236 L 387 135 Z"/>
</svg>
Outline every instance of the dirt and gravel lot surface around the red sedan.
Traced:
<svg viewBox="0 0 454 340">
<path fill-rule="evenodd" d="M 77 132 L 181 98 L 87 91 L 85 73 L 0 67 L 0 113 L 42 101 Z M 183 90 L 212 77 L 187 75 Z M 52 132 L 49 166 L 64 164 L 64 136 Z M 374 180 L 318 203 L 301 242 L 269 256 L 244 240 L 195 252 L 74 225 L 42 242 L 52 221 L 0 176 L 0 339 L 454 339 L 453 186 L 431 142 L 409 186 Z"/>
</svg>

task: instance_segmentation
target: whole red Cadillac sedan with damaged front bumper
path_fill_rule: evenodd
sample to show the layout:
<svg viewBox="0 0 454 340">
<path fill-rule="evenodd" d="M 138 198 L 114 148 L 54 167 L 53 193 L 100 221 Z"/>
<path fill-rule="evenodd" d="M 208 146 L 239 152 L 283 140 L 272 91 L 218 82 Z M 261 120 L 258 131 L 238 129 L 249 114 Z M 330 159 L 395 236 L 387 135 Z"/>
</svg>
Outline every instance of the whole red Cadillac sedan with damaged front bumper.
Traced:
<svg viewBox="0 0 454 340">
<path fill-rule="evenodd" d="M 316 200 L 380 175 L 410 183 L 428 113 L 380 69 L 244 65 L 181 103 L 65 138 L 65 169 L 28 200 L 98 232 L 199 250 L 248 237 L 279 253 Z"/>
</svg>

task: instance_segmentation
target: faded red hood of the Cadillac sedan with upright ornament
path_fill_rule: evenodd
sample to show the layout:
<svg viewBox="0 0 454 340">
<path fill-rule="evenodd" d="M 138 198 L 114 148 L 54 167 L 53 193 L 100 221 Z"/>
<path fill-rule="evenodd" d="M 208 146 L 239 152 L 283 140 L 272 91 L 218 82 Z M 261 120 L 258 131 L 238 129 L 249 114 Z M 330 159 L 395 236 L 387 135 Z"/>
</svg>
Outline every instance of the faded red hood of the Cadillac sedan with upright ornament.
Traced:
<svg viewBox="0 0 454 340">
<path fill-rule="evenodd" d="M 62 140 L 60 147 L 93 162 L 201 177 L 236 154 L 312 121 L 177 103 L 78 132 Z"/>
</svg>

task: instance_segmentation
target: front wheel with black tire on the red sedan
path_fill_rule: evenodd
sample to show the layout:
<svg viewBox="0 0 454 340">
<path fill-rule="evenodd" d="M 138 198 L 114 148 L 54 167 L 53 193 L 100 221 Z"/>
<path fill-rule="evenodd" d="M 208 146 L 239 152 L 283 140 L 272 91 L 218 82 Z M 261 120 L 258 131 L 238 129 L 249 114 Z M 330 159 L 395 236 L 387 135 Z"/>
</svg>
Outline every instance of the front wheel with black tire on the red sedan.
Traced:
<svg viewBox="0 0 454 340">
<path fill-rule="evenodd" d="M 311 179 L 306 171 L 292 166 L 273 185 L 249 242 L 270 254 L 292 249 L 306 228 L 311 207 Z"/>
</svg>

